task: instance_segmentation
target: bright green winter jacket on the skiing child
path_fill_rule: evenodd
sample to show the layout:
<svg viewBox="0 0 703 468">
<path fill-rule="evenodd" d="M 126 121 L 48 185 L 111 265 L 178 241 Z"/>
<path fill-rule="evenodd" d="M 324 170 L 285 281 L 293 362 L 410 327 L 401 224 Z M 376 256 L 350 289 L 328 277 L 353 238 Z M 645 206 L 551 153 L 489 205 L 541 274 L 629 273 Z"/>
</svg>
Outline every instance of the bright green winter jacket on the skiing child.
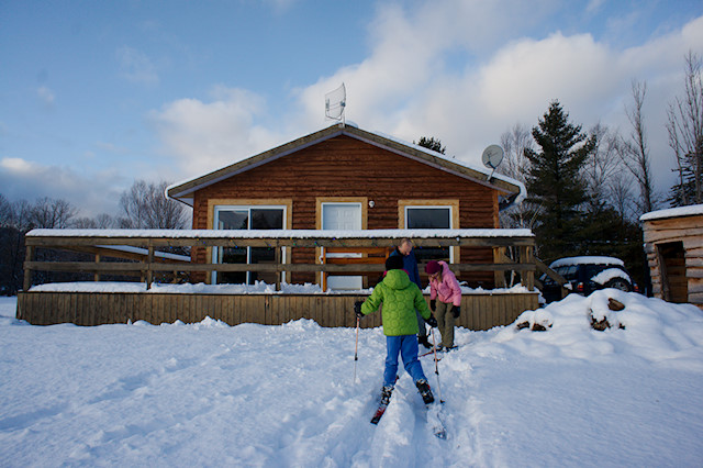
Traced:
<svg viewBox="0 0 703 468">
<path fill-rule="evenodd" d="M 431 312 L 417 285 L 412 282 L 403 270 L 389 270 L 383 281 L 379 282 L 373 292 L 361 305 L 361 313 L 368 315 L 378 310 L 383 303 L 381 316 L 383 334 L 386 336 L 416 335 L 417 317 L 415 309 L 424 319 L 429 319 Z"/>
</svg>

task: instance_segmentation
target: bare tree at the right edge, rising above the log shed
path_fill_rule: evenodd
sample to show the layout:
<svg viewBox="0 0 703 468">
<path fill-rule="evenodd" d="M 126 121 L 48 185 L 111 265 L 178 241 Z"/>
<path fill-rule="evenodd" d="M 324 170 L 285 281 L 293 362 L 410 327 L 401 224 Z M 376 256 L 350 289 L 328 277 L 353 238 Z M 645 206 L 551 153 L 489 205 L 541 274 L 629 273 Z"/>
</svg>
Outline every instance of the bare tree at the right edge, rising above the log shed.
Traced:
<svg viewBox="0 0 703 468">
<path fill-rule="evenodd" d="M 672 205 L 703 203 L 703 74 L 701 58 L 685 57 L 684 97 L 667 111 L 669 146 L 673 149 L 679 182 L 669 199 Z"/>
</svg>

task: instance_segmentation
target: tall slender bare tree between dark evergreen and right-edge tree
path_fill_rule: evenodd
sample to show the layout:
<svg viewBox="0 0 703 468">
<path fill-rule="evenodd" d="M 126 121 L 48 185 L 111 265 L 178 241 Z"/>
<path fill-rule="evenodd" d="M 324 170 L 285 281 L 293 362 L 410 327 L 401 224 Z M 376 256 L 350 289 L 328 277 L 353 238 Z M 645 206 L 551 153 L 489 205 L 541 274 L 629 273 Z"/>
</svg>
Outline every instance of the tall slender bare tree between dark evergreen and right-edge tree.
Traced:
<svg viewBox="0 0 703 468">
<path fill-rule="evenodd" d="M 655 208 L 651 165 L 643 114 L 645 96 L 647 94 L 647 83 L 633 80 L 632 91 L 634 103 L 632 107 L 625 107 L 625 113 L 633 129 L 629 134 L 629 140 L 621 141 L 622 144 L 618 145 L 617 154 L 635 177 L 635 180 L 637 180 L 640 197 L 639 209 L 640 212 L 646 213 L 652 211 Z"/>
</svg>

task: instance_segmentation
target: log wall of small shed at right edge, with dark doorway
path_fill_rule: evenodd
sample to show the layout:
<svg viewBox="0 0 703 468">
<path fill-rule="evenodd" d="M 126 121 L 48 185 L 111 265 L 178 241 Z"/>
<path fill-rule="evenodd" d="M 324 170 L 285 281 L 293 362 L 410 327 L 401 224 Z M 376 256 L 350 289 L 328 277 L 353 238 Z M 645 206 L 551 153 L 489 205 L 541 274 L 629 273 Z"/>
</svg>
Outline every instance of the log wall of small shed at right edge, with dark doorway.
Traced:
<svg viewBox="0 0 703 468">
<path fill-rule="evenodd" d="M 703 214 L 644 221 L 655 297 L 703 309 Z"/>
</svg>

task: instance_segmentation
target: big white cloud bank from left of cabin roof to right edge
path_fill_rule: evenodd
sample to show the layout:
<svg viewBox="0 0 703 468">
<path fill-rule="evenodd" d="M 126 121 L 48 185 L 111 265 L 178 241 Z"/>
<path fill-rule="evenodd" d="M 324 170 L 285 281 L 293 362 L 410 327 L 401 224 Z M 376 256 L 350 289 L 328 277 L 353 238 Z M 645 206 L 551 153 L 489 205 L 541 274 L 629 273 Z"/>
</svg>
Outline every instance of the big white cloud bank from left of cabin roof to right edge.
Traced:
<svg viewBox="0 0 703 468">
<path fill-rule="evenodd" d="M 242 89 L 220 88 L 209 102 L 174 101 L 150 118 L 165 151 L 192 177 L 274 147 L 283 136 L 331 124 L 324 120 L 324 94 L 345 82 L 347 120 L 406 141 L 435 136 L 449 154 L 481 164 L 487 145 L 517 122 L 536 125 L 554 99 L 584 130 L 601 122 L 626 133 L 624 105 L 636 78 L 648 83 L 651 157 L 659 186 L 668 188 L 666 107 L 681 92 L 683 56 L 690 48 L 701 53 L 703 18 L 626 49 L 591 34 L 521 33 L 542 24 L 554 5 L 553 0 L 440 0 L 413 2 L 413 9 L 382 3 L 369 24 L 368 57 L 295 89 L 298 105 L 275 131 L 260 123 L 270 118 L 264 98 Z M 584 8 L 595 12 L 604 4 L 594 0 Z"/>
</svg>

